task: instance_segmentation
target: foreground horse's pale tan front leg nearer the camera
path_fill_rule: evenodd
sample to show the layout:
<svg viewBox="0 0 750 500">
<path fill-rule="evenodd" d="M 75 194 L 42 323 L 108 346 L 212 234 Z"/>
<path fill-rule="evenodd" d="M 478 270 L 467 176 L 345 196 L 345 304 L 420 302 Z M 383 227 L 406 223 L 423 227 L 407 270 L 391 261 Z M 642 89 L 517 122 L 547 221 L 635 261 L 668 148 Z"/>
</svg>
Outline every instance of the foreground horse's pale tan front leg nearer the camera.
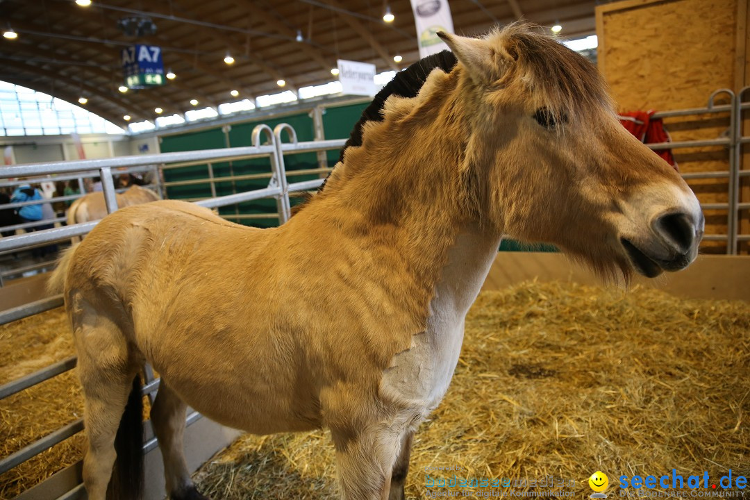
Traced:
<svg viewBox="0 0 750 500">
<path fill-rule="evenodd" d="M 404 431 L 384 424 L 373 424 L 364 430 L 331 431 L 342 498 L 389 500 Z"/>
</svg>

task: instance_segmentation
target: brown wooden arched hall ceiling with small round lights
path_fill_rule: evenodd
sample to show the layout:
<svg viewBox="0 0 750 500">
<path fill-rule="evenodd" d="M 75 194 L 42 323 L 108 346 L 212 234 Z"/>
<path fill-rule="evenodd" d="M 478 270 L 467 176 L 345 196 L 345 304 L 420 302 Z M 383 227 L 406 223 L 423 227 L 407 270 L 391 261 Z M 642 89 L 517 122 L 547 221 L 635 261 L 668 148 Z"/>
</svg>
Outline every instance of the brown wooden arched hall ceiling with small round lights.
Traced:
<svg viewBox="0 0 750 500">
<path fill-rule="evenodd" d="M 459 34 L 523 18 L 562 25 L 563 37 L 594 33 L 595 3 L 449 1 Z M 383 21 L 386 6 L 393 22 Z M 153 22 L 154 34 L 124 33 L 123 19 L 139 17 Z M 217 106 L 275 93 L 281 79 L 285 90 L 329 82 L 338 58 L 374 63 L 380 72 L 419 57 L 409 0 L 93 0 L 87 7 L 74 0 L 0 0 L 0 23 L 18 34 L 0 38 L 0 80 L 74 103 L 85 96 L 87 109 L 121 126 L 126 114 L 154 119 L 157 107 L 169 115 L 192 109 L 191 100 Z M 160 46 L 175 79 L 118 91 L 121 49 L 132 43 Z M 226 55 L 235 62 L 226 64 Z M 403 60 L 396 63 L 395 55 Z"/>
</svg>

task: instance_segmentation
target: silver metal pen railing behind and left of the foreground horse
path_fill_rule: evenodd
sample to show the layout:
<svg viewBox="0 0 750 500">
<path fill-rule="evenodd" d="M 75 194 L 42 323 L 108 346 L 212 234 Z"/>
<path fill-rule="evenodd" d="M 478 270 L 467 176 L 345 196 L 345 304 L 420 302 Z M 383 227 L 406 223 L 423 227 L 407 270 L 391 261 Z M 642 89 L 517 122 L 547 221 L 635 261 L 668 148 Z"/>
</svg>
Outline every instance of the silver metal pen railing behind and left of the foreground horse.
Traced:
<svg viewBox="0 0 750 500">
<path fill-rule="evenodd" d="M 290 142 L 282 143 L 281 134 L 286 132 Z M 261 145 L 261 138 L 265 136 L 269 144 Z M 115 199 L 115 188 L 113 184 L 113 169 L 120 166 L 141 166 L 148 164 L 157 164 L 161 168 L 169 168 L 170 165 L 179 162 L 193 161 L 216 161 L 229 157 L 242 158 L 266 158 L 269 160 L 271 172 L 263 178 L 269 178 L 269 185 L 263 189 L 247 191 L 244 193 L 234 193 L 228 196 L 213 197 L 196 201 L 196 205 L 206 208 L 217 208 L 226 205 L 233 205 L 240 202 L 247 202 L 254 199 L 273 198 L 277 202 L 278 217 L 281 223 L 284 223 L 290 217 L 290 193 L 302 190 L 311 190 L 323 184 L 323 179 L 314 179 L 311 181 L 302 181 L 289 183 L 287 173 L 284 167 L 284 155 L 296 154 L 309 151 L 328 151 L 331 149 L 341 148 L 346 142 L 341 140 L 329 141 L 310 141 L 298 142 L 296 132 L 288 124 L 279 124 L 275 129 L 268 125 L 262 124 L 255 127 L 252 133 L 252 146 L 242 148 L 226 148 L 205 151 L 187 151 L 181 153 L 164 153 L 144 155 L 137 157 L 118 157 L 106 160 L 80 160 L 55 163 L 36 163 L 31 165 L 4 166 L 0 167 L 0 178 L 26 177 L 29 175 L 55 175 L 60 173 L 78 173 L 91 172 L 98 169 L 104 189 L 104 198 L 107 201 L 107 211 L 109 213 L 117 209 Z M 328 169 L 314 169 L 316 172 L 327 171 Z M 220 178 L 223 180 L 223 178 Z M 233 217 L 233 216 L 228 216 Z M 49 244 L 54 241 L 61 241 L 72 236 L 85 235 L 91 231 L 98 221 L 89 223 L 74 224 L 71 226 L 58 227 L 54 229 L 44 229 L 37 232 L 26 233 L 23 235 L 14 235 L 0 239 L 0 252 L 9 252 L 21 250 L 34 245 Z M 62 305 L 62 295 L 56 295 L 49 298 L 43 298 L 31 304 L 24 304 L 10 310 L 0 311 L 0 325 L 8 322 L 42 313 L 46 310 L 54 309 Z M 76 366 L 76 358 L 70 357 L 63 361 L 37 370 L 23 376 L 20 379 L 7 382 L 0 386 L 0 400 L 24 391 L 34 385 L 40 384 L 52 377 L 72 370 Z M 144 370 L 145 384 L 143 394 L 152 396 L 157 391 L 159 379 L 154 379 L 150 369 Z M 200 415 L 196 412 L 187 415 L 187 424 L 197 421 Z M 31 460 L 42 451 L 68 439 L 74 434 L 83 430 L 83 421 L 80 419 L 64 427 L 37 439 L 26 445 L 26 447 L 16 451 L 8 457 L 0 458 L 0 474 L 3 474 L 13 467 L 18 466 L 26 460 Z M 157 441 L 155 438 L 144 443 L 144 452 L 155 448 Z M 81 485 L 65 494 L 65 498 L 77 498 L 83 492 Z"/>
</svg>

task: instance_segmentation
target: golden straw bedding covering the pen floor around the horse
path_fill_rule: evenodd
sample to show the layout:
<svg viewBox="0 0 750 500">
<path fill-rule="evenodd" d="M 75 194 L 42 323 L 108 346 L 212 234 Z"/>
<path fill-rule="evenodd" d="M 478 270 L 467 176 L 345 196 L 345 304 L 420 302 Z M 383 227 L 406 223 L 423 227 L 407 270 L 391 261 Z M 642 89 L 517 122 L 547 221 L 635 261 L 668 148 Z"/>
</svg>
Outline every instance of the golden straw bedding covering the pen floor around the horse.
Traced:
<svg viewBox="0 0 750 500">
<path fill-rule="evenodd" d="M 0 329 L 0 383 L 65 358 L 62 311 Z M 39 353 L 43 355 L 40 357 Z M 431 478 L 574 480 L 601 469 L 687 478 L 750 475 L 750 306 L 570 283 L 482 292 L 466 319 L 452 386 L 416 435 L 407 496 Z M 4 456 L 80 415 L 74 375 L 0 402 Z M 80 458 L 77 436 L 0 476 L 12 498 Z M 334 499 L 326 432 L 243 436 L 196 474 L 214 499 Z M 456 471 L 425 468 L 452 466 Z M 497 489 L 494 489 L 497 490 Z M 511 490 L 539 490 L 521 486 Z M 610 490 L 613 487 L 610 486 Z"/>
</svg>

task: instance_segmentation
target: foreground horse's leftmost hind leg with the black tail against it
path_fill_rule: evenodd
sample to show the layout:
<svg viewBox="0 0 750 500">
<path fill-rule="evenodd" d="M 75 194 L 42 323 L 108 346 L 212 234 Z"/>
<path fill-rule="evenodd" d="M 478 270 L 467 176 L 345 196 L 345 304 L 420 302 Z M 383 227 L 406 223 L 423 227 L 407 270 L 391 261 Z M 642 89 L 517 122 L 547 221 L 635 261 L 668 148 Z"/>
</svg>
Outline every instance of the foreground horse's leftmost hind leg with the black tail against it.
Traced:
<svg viewBox="0 0 750 500">
<path fill-rule="evenodd" d="M 143 423 L 138 367 L 131 361 L 127 341 L 115 322 L 82 303 L 74 308 L 71 319 L 88 438 L 83 484 L 90 500 L 105 500 L 108 485 L 110 500 L 139 499 Z"/>
</svg>

